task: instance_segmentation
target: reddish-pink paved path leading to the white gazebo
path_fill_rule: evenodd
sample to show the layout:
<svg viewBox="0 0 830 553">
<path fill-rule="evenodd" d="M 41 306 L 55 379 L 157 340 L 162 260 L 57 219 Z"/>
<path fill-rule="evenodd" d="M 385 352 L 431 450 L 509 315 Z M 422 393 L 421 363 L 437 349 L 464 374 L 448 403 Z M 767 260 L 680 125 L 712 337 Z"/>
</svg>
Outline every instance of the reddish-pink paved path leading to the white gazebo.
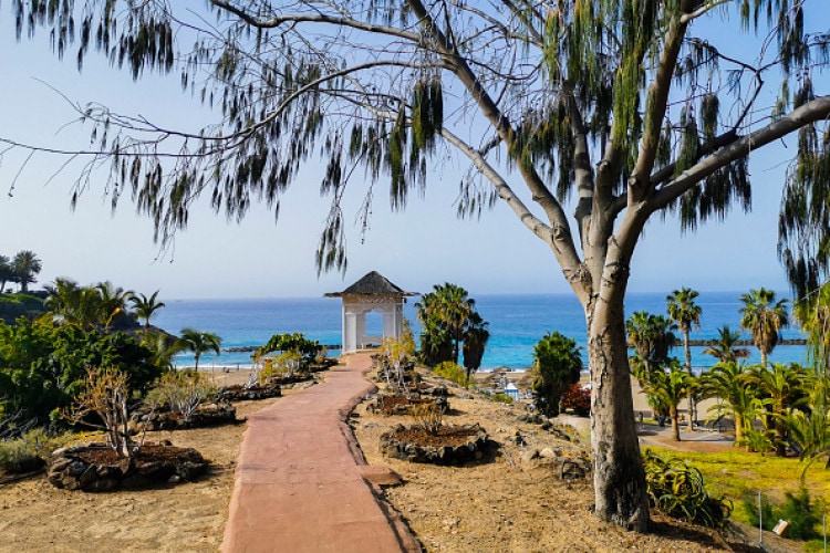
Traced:
<svg viewBox="0 0 830 553">
<path fill-rule="evenodd" d="M 224 552 L 419 551 L 373 493 L 345 418 L 375 387 L 369 354 L 248 419 Z"/>
</svg>

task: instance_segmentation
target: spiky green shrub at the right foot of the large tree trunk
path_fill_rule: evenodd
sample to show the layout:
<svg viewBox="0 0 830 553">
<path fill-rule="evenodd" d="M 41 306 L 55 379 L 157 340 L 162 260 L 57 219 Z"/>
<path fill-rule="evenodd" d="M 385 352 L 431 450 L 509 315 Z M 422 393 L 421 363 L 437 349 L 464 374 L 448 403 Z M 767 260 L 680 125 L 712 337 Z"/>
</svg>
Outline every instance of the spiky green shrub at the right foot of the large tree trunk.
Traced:
<svg viewBox="0 0 830 553">
<path fill-rule="evenodd" d="M 682 459 L 645 450 L 645 483 L 651 505 L 667 514 L 710 528 L 723 526 L 732 502 L 710 497 L 701 471 Z"/>
</svg>

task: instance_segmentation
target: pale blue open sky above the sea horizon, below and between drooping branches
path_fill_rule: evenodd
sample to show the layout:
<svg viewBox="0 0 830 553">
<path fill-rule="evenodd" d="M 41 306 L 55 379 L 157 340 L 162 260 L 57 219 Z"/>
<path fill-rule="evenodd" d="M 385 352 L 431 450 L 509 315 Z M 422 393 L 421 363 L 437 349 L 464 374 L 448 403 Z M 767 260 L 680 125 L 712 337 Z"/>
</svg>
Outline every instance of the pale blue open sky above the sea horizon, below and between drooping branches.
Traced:
<svg viewBox="0 0 830 553">
<path fill-rule="evenodd" d="M 168 126 L 197 128 L 214 116 L 180 92 L 176 75 L 135 83 L 94 56 L 79 74 L 73 54 L 58 61 L 42 31 L 20 43 L 13 34 L 9 6 L 0 4 L 2 137 L 71 149 L 89 146 L 89 129 L 70 124 L 75 118 L 70 101 L 98 102 Z M 725 222 L 710 221 L 685 236 L 674 219 L 652 221 L 637 247 L 629 289 L 745 292 L 765 286 L 786 293 L 776 254 L 777 215 L 793 145 L 791 137 L 751 158 L 751 213 L 735 211 Z M 108 280 L 147 295 L 160 290 L 167 300 L 312 298 L 343 290 L 376 270 L 413 292 L 444 282 L 464 286 L 474 298 L 570 291 L 547 246 L 506 206 L 499 202 L 480 220 L 456 218 L 458 182 L 466 169 L 459 158 L 432 170 L 425 196 L 413 196 L 403 212 L 390 211 L 386 185 L 378 186 L 365 237 L 356 222 L 360 198 L 353 198 L 345 211 L 346 222 L 354 222 L 347 228 L 349 268 L 345 274 L 320 276 L 314 251 L 328 204 L 318 194 L 320 168 L 314 163 L 284 197 L 276 225 L 263 206 L 237 225 L 201 204 L 167 252 L 153 242 L 152 221 L 137 216 L 126 198 L 111 212 L 103 177 L 90 182 L 73 212 L 70 194 L 80 166 L 56 173 L 61 165 L 44 154 L 28 161 L 19 152 L 0 158 L 0 254 L 35 252 L 43 270 L 33 288 L 68 276 L 81 284 Z"/>
</svg>

